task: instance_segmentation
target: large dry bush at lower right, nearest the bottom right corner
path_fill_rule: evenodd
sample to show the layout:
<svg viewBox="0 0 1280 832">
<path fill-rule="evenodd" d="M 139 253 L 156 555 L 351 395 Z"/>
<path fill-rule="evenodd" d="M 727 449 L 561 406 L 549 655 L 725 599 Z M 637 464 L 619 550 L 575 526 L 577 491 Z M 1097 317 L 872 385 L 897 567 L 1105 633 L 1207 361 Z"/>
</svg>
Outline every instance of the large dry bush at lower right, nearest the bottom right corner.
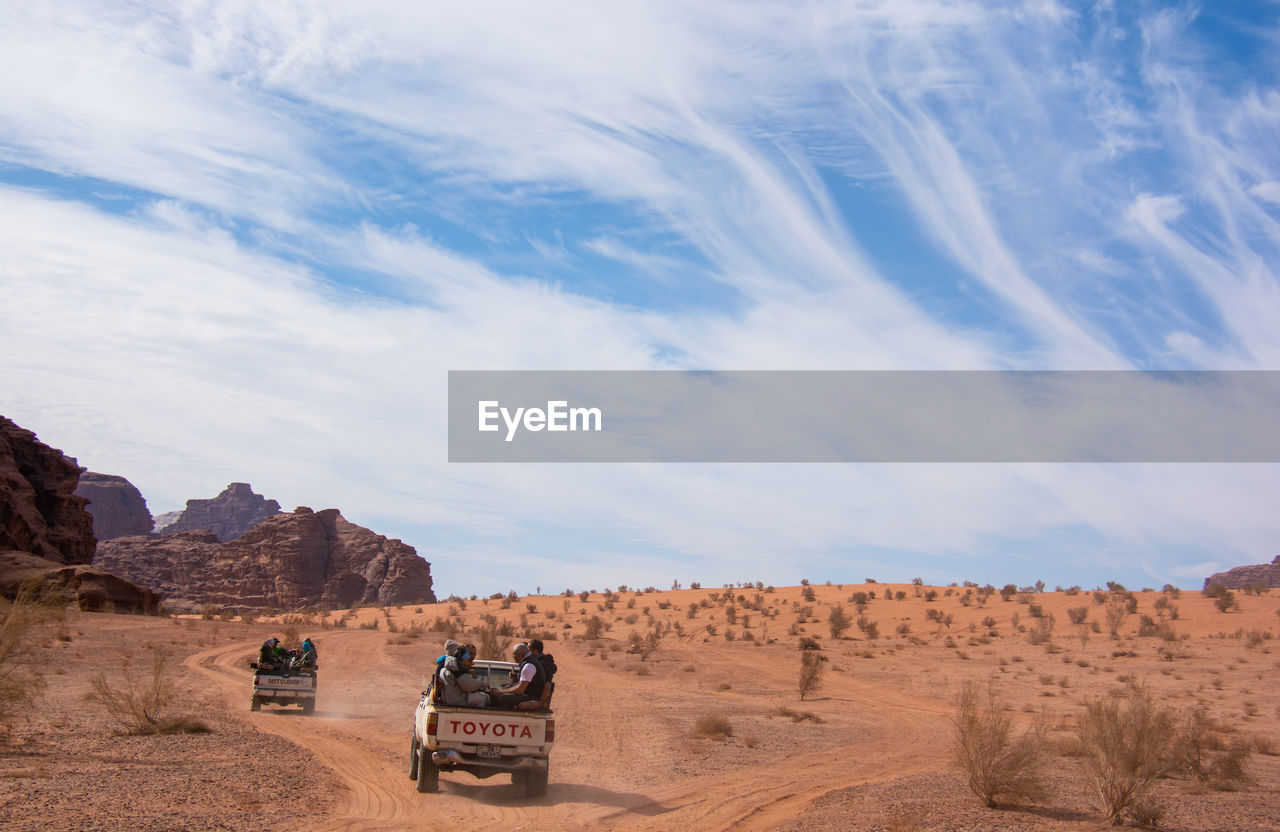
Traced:
<svg viewBox="0 0 1280 832">
<path fill-rule="evenodd" d="M 1089 781 L 1107 820 L 1119 826 L 1142 804 L 1152 781 L 1167 771 L 1174 717 L 1139 687 L 1128 699 L 1111 695 L 1089 703 L 1078 733 Z"/>
</svg>

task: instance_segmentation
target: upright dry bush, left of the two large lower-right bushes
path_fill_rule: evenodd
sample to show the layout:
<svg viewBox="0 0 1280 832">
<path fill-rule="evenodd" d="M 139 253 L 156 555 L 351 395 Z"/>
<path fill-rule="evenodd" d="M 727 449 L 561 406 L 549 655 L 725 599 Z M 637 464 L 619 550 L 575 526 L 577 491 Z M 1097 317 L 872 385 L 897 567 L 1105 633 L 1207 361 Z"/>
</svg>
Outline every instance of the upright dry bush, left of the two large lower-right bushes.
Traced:
<svg viewBox="0 0 1280 832">
<path fill-rule="evenodd" d="M 956 698 L 955 759 L 969 777 L 969 788 L 991 808 L 997 800 L 1033 801 L 1043 792 L 1044 736 L 1032 726 L 1014 736 L 1012 719 L 995 690 L 983 696 L 966 682 Z"/>
</svg>

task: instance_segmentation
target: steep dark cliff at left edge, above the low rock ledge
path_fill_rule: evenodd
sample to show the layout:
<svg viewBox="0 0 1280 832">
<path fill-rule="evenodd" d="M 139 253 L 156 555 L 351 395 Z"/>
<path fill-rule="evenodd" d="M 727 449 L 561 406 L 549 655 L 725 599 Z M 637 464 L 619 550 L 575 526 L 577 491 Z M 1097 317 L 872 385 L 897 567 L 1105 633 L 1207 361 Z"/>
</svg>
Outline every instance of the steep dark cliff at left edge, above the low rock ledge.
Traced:
<svg viewBox="0 0 1280 832">
<path fill-rule="evenodd" d="M 76 495 L 81 467 L 0 416 L 0 550 L 54 563 L 93 559 L 93 521 Z"/>
</svg>

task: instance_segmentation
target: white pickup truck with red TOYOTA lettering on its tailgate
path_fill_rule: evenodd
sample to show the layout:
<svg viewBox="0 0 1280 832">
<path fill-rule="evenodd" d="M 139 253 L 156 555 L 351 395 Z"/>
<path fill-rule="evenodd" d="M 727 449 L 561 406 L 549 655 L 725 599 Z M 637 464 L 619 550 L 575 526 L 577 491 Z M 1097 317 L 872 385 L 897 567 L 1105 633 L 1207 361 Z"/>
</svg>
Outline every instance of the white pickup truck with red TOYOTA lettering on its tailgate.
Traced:
<svg viewBox="0 0 1280 832">
<path fill-rule="evenodd" d="M 479 660 L 472 669 L 488 677 L 490 687 L 504 687 L 520 668 L 512 662 Z M 445 771 L 480 778 L 511 774 L 526 797 L 547 794 L 548 756 L 556 742 L 556 718 L 549 710 L 454 708 L 431 699 L 429 687 L 413 714 L 408 776 L 420 792 L 438 791 Z"/>
</svg>

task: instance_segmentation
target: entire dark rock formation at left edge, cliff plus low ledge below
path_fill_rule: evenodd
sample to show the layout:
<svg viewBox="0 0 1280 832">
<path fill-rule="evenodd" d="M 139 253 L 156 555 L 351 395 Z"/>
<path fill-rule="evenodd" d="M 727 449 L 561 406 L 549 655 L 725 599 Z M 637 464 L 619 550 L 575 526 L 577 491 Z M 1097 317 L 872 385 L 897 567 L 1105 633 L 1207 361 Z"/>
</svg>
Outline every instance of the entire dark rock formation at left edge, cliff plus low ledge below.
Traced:
<svg viewBox="0 0 1280 832">
<path fill-rule="evenodd" d="M 155 612 L 155 593 L 88 566 L 93 518 L 79 476 L 76 460 L 0 416 L 0 595 L 35 584 L 82 609 Z"/>
</svg>

